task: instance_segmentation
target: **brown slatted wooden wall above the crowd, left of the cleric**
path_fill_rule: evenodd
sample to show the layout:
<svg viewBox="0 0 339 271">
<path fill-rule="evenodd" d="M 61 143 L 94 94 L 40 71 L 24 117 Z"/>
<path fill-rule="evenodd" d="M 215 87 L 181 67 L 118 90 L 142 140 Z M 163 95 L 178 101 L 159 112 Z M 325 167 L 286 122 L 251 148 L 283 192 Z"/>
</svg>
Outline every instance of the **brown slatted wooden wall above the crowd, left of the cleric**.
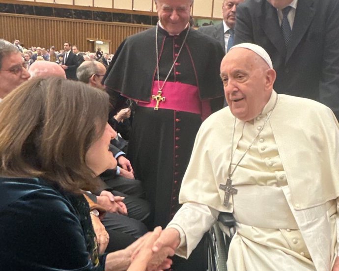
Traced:
<svg viewBox="0 0 339 271">
<path fill-rule="evenodd" d="M 87 48 L 87 39 L 110 41 L 110 53 L 114 53 L 128 36 L 151 26 L 124 23 L 94 22 L 41 16 L 0 13 L 0 37 L 9 41 L 19 39 L 25 47 L 40 46 L 57 50 L 65 41 Z"/>
</svg>

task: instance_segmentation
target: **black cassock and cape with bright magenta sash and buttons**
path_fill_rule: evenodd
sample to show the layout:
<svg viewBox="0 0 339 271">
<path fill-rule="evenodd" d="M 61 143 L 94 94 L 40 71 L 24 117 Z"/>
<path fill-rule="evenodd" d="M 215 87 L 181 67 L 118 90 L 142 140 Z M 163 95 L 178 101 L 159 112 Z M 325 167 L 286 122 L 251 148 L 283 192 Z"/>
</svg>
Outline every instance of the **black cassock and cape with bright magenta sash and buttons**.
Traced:
<svg viewBox="0 0 339 271">
<path fill-rule="evenodd" d="M 188 28 L 171 36 L 158 29 L 160 86 L 179 53 Z M 159 110 L 156 27 L 128 37 L 114 54 L 105 85 L 113 104 L 111 115 L 127 98 L 138 101 L 130 133 L 128 157 L 146 191 L 154 223 L 165 227 L 179 209 L 178 194 L 202 119 L 222 108 L 224 93 L 218 41 L 193 28 L 164 85 Z M 204 166 L 204 165 L 197 165 Z"/>
</svg>

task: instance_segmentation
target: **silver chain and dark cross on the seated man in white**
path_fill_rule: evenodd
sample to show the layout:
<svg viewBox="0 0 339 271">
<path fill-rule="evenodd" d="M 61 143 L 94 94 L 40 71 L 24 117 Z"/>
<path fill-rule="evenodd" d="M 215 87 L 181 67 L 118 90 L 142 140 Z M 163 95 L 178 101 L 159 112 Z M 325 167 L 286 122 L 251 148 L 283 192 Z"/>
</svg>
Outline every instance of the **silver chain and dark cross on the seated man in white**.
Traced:
<svg viewBox="0 0 339 271">
<path fill-rule="evenodd" d="M 233 125 L 233 132 L 232 132 L 232 145 L 231 145 L 231 151 L 230 151 L 230 162 L 229 162 L 229 166 L 228 166 L 228 178 L 226 181 L 226 184 L 220 184 L 219 188 L 221 190 L 225 191 L 225 197 L 224 197 L 224 205 L 226 207 L 228 207 L 228 202 L 229 202 L 229 198 L 231 196 L 231 194 L 236 194 L 238 192 L 237 189 L 235 189 L 234 187 L 232 187 L 232 175 L 235 171 L 235 169 L 237 168 L 237 166 L 239 165 L 239 163 L 243 160 L 243 158 L 245 157 L 245 155 L 247 154 L 247 152 L 250 150 L 250 148 L 252 147 L 252 145 L 254 144 L 256 138 L 258 138 L 258 136 L 260 135 L 261 131 L 264 129 L 267 121 L 269 120 L 274 108 L 276 108 L 278 102 L 278 95 L 276 98 L 276 101 L 274 103 L 273 108 L 268 112 L 267 118 L 264 121 L 264 124 L 261 126 L 260 130 L 258 131 L 258 133 L 256 133 L 256 135 L 254 136 L 254 139 L 252 141 L 252 143 L 247 147 L 246 151 L 244 152 L 244 154 L 241 156 L 241 158 L 239 159 L 238 163 L 236 163 L 235 167 L 233 168 L 233 170 L 231 171 L 231 165 L 232 165 L 232 160 L 233 160 L 233 156 L 235 154 L 233 154 L 233 146 L 234 146 L 234 134 L 235 134 L 235 124 L 237 121 L 237 118 L 234 117 L 234 125 Z"/>
</svg>

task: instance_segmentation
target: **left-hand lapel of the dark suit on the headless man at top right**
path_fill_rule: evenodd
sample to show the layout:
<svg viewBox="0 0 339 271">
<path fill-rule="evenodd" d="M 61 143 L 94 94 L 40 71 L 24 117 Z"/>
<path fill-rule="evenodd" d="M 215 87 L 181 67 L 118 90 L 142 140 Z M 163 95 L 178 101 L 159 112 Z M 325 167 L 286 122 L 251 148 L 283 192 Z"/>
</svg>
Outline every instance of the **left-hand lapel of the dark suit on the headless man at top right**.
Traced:
<svg viewBox="0 0 339 271">
<path fill-rule="evenodd" d="M 285 45 L 282 37 L 282 31 L 279 26 L 277 9 L 269 2 L 264 1 L 264 9 L 266 12 L 262 13 L 260 20 L 261 28 L 264 30 L 267 38 L 277 48 L 279 54 L 285 55 Z"/>
</svg>

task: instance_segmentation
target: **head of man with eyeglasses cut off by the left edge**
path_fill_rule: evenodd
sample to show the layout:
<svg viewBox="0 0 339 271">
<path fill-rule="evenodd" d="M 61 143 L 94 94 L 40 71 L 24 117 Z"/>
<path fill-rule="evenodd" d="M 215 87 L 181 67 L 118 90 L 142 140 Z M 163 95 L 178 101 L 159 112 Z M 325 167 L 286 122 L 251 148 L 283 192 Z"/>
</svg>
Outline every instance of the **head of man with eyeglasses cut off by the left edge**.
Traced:
<svg viewBox="0 0 339 271">
<path fill-rule="evenodd" d="M 30 77 L 19 49 L 0 39 L 0 101 Z"/>
</svg>

